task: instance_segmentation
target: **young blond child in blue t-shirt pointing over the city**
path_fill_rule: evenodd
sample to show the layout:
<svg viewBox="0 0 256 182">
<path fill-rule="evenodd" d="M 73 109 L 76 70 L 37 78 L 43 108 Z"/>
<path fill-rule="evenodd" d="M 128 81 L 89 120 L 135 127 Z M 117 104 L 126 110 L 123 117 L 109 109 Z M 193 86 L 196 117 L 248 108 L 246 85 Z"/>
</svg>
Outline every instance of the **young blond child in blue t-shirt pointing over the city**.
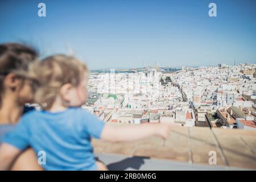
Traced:
<svg viewBox="0 0 256 182">
<path fill-rule="evenodd" d="M 35 101 L 41 111 L 25 114 L 18 126 L 3 139 L 0 169 L 9 169 L 28 146 L 46 154 L 46 170 L 104 170 L 93 155 L 91 137 L 126 142 L 159 135 L 166 138 L 163 124 L 113 127 L 80 109 L 86 100 L 88 69 L 75 57 L 50 56 L 32 64 L 28 77 L 35 80 Z"/>
</svg>

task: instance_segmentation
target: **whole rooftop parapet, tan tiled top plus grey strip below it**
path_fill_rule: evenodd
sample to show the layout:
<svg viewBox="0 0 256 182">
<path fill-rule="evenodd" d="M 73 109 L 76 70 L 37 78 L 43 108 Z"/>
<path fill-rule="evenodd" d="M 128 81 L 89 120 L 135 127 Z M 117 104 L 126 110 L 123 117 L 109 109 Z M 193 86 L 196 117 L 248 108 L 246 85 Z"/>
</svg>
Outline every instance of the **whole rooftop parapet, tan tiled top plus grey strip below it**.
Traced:
<svg viewBox="0 0 256 182">
<path fill-rule="evenodd" d="M 119 124 L 112 124 L 117 126 Z M 172 128 L 169 137 L 137 142 L 92 140 L 96 156 L 115 170 L 240 170 L 256 169 L 256 131 Z M 209 164 L 210 151 L 217 164 Z"/>
</svg>

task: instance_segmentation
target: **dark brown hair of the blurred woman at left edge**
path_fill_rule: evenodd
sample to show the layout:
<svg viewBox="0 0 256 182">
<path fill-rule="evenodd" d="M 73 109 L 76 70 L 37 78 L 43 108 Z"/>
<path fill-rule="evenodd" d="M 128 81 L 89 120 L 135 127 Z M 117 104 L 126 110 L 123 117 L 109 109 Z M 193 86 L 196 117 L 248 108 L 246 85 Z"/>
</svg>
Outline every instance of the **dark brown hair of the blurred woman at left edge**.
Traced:
<svg viewBox="0 0 256 182">
<path fill-rule="evenodd" d="M 0 44 L 0 107 L 5 77 L 12 72 L 27 71 L 28 64 L 38 58 L 38 52 L 18 43 Z"/>
</svg>

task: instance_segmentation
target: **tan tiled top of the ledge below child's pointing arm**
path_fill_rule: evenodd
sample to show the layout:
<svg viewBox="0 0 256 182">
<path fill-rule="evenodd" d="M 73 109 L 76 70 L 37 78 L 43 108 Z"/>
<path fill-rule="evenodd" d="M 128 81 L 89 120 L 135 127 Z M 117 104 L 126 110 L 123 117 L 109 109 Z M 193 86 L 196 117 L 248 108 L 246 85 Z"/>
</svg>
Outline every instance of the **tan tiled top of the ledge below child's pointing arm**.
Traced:
<svg viewBox="0 0 256 182">
<path fill-rule="evenodd" d="M 117 129 L 119 124 L 115 124 Z M 209 151 L 216 151 L 217 165 L 256 169 L 256 132 L 174 127 L 169 137 L 150 137 L 137 142 L 110 143 L 92 139 L 94 152 L 209 165 Z M 211 166 L 211 165 L 209 165 Z"/>
</svg>

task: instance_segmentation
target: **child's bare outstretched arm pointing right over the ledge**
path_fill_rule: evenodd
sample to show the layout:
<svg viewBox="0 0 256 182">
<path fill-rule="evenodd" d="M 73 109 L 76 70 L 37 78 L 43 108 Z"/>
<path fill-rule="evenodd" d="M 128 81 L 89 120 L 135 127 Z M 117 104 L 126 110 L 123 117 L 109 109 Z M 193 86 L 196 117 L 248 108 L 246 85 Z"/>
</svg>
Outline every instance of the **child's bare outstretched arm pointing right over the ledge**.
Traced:
<svg viewBox="0 0 256 182">
<path fill-rule="evenodd" d="M 170 131 L 170 125 L 160 123 L 150 123 L 147 125 L 132 125 L 114 127 L 106 124 L 101 133 L 101 139 L 110 142 L 129 142 L 158 135 L 167 138 Z"/>
</svg>

